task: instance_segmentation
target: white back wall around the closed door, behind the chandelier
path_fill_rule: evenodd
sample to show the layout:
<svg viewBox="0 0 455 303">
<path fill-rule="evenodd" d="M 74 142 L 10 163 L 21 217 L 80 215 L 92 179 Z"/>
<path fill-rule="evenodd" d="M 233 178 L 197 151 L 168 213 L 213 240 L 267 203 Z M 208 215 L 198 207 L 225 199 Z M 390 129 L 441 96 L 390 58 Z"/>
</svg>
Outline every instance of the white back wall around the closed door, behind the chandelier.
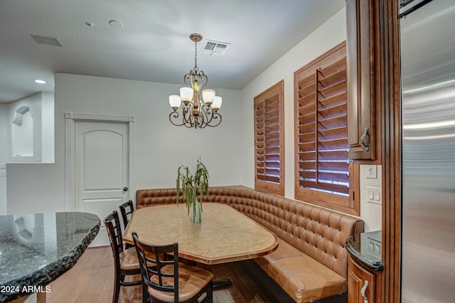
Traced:
<svg viewBox="0 0 455 303">
<path fill-rule="evenodd" d="M 181 85 L 83 75 L 55 75 L 55 164 L 8 165 L 8 212 L 64 211 L 65 112 L 132 116 L 135 119 L 137 188 L 175 186 L 176 169 L 201 156 L 210 185 L 242 184 L 246 147 L 240 90 L 217 89 L 223 122 L 186 129 L 168 121 L 168 95 Z"/>
</svg>

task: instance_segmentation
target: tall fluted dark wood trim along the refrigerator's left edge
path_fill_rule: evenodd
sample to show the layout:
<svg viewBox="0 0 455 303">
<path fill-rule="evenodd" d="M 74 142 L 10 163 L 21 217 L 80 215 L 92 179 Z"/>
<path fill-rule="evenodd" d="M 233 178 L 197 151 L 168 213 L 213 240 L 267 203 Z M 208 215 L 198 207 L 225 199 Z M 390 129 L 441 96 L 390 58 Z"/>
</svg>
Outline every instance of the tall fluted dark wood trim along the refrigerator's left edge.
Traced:
<svg viewBox="0 0 455 303">
<path fill-rule="evenodd" d="M 374 1 L 382 125 L 382 302 L 400 302 L 401 98 L 398 1 Z"/>
</svg>

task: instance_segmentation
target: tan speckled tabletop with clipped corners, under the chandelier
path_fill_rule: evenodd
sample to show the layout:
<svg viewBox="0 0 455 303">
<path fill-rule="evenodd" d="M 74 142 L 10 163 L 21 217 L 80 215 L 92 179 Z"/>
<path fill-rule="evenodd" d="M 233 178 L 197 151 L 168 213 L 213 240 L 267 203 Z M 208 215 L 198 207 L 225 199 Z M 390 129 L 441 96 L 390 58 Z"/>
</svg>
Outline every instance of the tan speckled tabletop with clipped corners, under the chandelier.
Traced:
<svg viewBox="0 0 455 303">
<path fill-rule="evenodd" d="M 186 205 L 162 205 L 134 211 L 124 241 L 164 245 L 178 242 L 178 255 L 204 264 L 247 260 L 267 255 L 278 246 L 277 235 L 255 220 L 220 203 L 203 203 L 202 220 L 193 223 Z"/>
</svg>

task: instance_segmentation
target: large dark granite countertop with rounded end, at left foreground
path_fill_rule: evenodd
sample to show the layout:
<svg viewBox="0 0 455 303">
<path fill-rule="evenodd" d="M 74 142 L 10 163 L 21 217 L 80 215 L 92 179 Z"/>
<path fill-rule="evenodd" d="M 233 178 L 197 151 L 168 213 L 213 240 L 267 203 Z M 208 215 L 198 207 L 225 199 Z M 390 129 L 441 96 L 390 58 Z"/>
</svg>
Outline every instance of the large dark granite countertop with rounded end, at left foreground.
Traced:
<svg viewBox="0 0 455 303">
<path fill-rule="evenodd" d="M 45 292 L 45 285 L 75 265 L 99 230 L 100 218 L 92 213 L 0 216 L 0 302 Z"/>
</svg>

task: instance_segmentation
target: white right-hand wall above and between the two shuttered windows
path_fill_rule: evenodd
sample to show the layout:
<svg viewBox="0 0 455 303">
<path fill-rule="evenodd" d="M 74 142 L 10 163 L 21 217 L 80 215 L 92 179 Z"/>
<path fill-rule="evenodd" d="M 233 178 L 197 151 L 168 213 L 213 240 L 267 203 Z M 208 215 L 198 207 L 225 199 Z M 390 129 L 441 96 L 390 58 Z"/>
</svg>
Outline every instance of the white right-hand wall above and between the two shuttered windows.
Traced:
<svg viewBox="0 0 455 303">
<path fill-rule="evenodd" d="M 244 166 L 247 171 L 245 186 L 255 186 L 253 99 L 284 79 L 284 196 L 294 198 L 294 71 L 345 40 L 346 10 L 342 9 L 243 87 L 242 111 L 245 121 L 249 122 L 245 129 L 247 139 L 244 142 L 248 154 L 248 161 Z"/>
</svg>

